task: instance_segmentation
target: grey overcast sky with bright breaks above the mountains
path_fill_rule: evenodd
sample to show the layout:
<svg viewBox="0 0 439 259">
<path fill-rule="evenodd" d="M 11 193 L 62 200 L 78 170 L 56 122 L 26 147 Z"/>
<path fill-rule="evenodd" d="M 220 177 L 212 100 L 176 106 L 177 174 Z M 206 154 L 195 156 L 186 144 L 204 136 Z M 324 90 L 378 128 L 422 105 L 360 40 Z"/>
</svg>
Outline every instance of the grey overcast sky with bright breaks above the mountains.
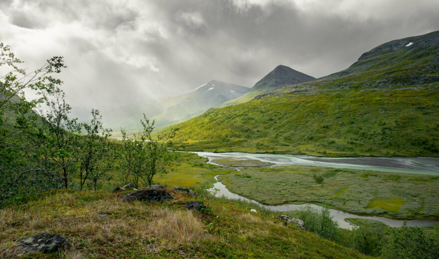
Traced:
<svg viewBox="0 0 439 259">
<path fill-rule="evenodd" d="M 439 29 L 438 0 L 0 0 L 0 41 L 33 69 L 54 55 L 76 108 L 108 109 L 276 65 L 314 77 Z"/>
</svg>

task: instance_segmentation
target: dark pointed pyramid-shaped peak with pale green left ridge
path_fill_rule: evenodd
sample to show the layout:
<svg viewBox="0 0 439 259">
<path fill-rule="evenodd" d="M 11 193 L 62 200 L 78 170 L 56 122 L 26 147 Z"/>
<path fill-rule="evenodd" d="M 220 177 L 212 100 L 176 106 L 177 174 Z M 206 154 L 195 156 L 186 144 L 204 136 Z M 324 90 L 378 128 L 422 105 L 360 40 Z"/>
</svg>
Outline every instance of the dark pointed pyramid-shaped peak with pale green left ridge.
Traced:
<svg viewBox="0 0 439 259">
<path fill-rule="evenodd" d="M 312 76 L 296 71 L 288 66 L 278 65 L 271 72 L 260 79 L 245 95 L 230 100 L 220 107 L 235 105 L 253 99 L 256 95 L 268 92 L 278 87 L 294 85 L 315 79 Z"/>
</svg>

